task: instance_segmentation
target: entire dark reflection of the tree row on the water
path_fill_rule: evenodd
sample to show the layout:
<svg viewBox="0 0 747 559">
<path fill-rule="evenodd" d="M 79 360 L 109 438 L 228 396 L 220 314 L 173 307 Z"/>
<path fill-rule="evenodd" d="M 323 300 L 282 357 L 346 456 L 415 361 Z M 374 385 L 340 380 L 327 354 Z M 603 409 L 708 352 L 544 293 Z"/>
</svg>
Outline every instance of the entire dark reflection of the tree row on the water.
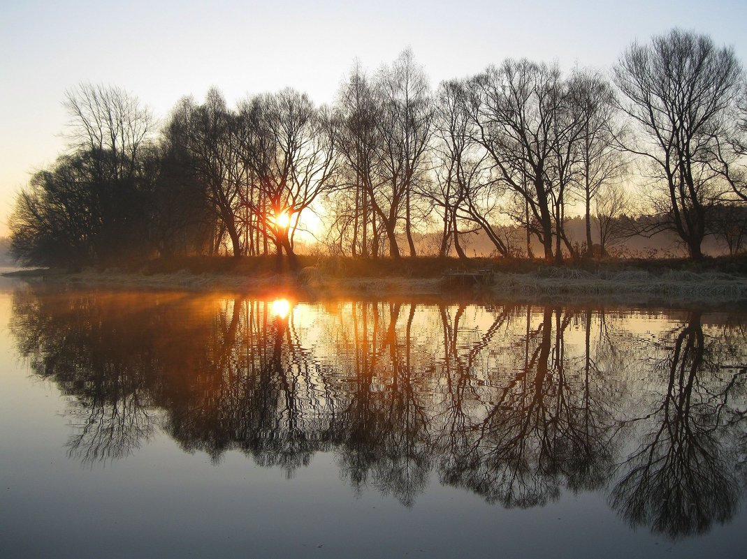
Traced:
<svg viewBox="0 0 747 559">
<path fill-rule="evenodd" d="M 740 319 L 20 290 L 11 329 L 68 397 L 89 465 L 163 430 L 289 477 L 334 452 L 353 490 L 406 506 L 433 473 L 507 508 L 609 488 L 631 525 L 679 537 L 737 510 Z"/>
</svg>

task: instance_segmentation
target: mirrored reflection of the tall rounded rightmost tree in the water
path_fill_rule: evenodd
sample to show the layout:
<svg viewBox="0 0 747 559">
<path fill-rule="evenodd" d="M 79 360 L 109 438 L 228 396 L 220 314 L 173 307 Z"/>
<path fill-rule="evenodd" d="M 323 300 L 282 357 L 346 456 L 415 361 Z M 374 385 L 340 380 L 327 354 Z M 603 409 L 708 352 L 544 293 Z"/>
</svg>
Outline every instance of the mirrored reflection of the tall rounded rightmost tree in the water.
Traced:
<svg viewBox="0 0 747 559">
<path fill-rule="evenodd" d="M 704 334 L 699 312 L 657 346 L 664 357 L 653 361 L 651 372 L 665 388 L 645 416 L 631 420 L 643 423 L 643 442 L 622 464 L 610 499 L 631 525 L 678 537 L 707 531 L 737 509 L 733 437 L 744 416 L 747 372 L 725 366 L 742 348 L 724 331 Z"/>
</svg>

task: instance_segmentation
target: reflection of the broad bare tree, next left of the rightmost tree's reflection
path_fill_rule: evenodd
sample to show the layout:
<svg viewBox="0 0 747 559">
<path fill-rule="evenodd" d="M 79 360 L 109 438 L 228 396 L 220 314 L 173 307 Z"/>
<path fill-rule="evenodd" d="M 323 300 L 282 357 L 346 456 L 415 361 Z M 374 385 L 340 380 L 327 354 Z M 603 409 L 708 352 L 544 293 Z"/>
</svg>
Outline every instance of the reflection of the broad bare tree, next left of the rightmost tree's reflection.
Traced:
<svg viewBox="0 0 747 559">
<path fill-rule="evenodd" d="M 523 350 L 518 354 L 523 363 L 514 360 L 506 369 L 495 402 L 464 430 L 465 443 L 450 446 L 449 451 L 459 454 L 450 456 L 441 473 L 444 482 L 505 507 L 544 505 L 557 499 L 562 485 L 597 489 L 613 460 L 614 423 L 607 407 L 614 395 L 598 393 L 604 378 L 595 374 L 590 357 L 579 367 L 578 360 L 565 355 L 565 331 L 580 317 L 545 307 L 536 328 L 531 317 L 527 309 L 523 340 L 501 348 L 506 354 Z M 588 344 L 591 313 L 582 318 Z M 515 330 L 515 322 L 508 328 L 503 339 Z M 503 363 L 511 359 L 503 357 Z M 597 382 L 592 383 L 592 375 Z"/>
</svg>

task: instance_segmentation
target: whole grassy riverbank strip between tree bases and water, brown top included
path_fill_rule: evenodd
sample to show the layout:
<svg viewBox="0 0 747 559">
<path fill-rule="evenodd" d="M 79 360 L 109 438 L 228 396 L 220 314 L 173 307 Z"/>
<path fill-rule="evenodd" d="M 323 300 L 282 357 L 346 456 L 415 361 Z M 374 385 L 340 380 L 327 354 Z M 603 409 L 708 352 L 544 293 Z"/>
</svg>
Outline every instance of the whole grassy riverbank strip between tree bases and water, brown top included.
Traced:
<svg viewBox="0 0 747 559">
<path fill-rule="evenodd" d="M 307 260 L 311 260 L 306 257 Z M 309 263 L 300 262 L 301 264 Z M 439 299 L 518 302 L 695 303 L 747 307 L 743 259 L 581 262 L 551 266 L 487 259 L 316 259 L 300 271 L 276 272 L 276 260 L 153 260 L 139 269 L 39 269 L 4 274 L 34 284 L 245 293 L 294 299 Z M 736 272 L 726 272 L 726 269 Z M 454 281 L 454 277 L 459 281 Z"/>
</svg>

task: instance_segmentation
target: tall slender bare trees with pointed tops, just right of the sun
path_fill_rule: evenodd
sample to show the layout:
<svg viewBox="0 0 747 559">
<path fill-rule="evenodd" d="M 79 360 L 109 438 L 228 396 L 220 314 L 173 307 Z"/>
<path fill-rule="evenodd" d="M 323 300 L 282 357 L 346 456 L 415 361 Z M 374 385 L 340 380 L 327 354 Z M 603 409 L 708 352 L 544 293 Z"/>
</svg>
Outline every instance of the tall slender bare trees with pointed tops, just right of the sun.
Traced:
<svg viewBox="0 0 747 559">
<path fill-rule="evenodd" d="M 335 225 L 340 240 L 351 237 L 353 255 L 377 256 L 380 237 L 385 237 L 389 255 L 399 258 L 398 235 L 403 232 L 409 254 L 415 256 L 417 189 L 428 180 L 432 132 L 430 85 L 412 51 L 403 51 L 375 78 L 368 78 L 360 66 L 353 67 L 335 107 L 340 184 L 348 190 L 335 196 L 344 212 Z"/>
</svg>

